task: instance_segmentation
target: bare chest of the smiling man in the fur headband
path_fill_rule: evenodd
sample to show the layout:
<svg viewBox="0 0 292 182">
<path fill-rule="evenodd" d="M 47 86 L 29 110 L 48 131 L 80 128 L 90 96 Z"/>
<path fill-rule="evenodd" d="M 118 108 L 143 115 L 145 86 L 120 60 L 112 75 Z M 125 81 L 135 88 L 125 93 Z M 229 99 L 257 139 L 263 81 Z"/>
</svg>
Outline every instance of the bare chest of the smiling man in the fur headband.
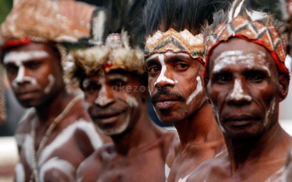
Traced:
<svg viewBox="0 0 292 182">
<path fill-rule="evenodd" d="M 165 159 L 159 150 L 104 159 L 97 182 L 165 182 Z"/>
</svg>

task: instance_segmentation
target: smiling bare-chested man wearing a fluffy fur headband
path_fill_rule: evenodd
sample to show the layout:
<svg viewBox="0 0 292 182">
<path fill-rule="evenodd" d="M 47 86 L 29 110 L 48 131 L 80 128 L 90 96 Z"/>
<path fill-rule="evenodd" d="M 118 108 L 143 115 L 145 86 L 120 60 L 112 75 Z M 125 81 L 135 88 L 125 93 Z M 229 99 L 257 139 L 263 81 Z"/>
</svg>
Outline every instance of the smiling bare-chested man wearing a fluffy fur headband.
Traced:
<svg viewBox="0 0 292 182">
<path fill-rule="evenodd" d="M 72 52 L 76 65 L 73 75 L 85 92 L 91 119 L 113 140 L 80 164 L 78 182 L 165 182 L 165 159 L 176 134 L 155 125 L 147 114 L 145 30 L 133 19 L 142 15 L 144 4 L 143 0 L 132 0 L 127 8 L 132 18 L 116 16 L 127 23 L 111 27 L 105 43 Z M 97 10 L 93 24 L 114 22 L 115 16 L 105 12 Z M 100 41 L 94 39 L 102 37 L 98 30 L 100 27 L 93 26 L 91 42 L 97 45 Z"/>
</svg>

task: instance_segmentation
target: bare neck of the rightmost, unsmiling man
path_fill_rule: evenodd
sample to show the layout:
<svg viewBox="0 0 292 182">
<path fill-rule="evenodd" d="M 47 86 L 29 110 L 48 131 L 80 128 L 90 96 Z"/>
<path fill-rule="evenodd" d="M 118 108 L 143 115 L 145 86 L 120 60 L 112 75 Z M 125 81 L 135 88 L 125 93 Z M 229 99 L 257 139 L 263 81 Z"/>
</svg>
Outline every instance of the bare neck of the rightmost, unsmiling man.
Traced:
<svg viewBox="0 0 292 182">
<path fill-rule="evenodd" d="M 281 128 L 278 121 L 261 136 L 248 139 L 224 137 L 233 174 L 244 164 L 284 159 L 292 143 L 291 136 Z"/>
</svg>

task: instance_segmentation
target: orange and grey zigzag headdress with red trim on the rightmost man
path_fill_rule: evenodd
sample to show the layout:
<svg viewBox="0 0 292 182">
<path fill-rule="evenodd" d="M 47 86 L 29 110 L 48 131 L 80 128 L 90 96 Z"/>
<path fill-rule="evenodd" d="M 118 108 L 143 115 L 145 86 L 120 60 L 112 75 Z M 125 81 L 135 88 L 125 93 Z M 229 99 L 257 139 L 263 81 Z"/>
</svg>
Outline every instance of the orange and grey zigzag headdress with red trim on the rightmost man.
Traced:
<svg viewBox="0 0 292 182">
<path fill-rule="evenodd" d="M 248 10 L 245 0 L 235 0 L 228 13 L 220 11 L 214 16 L 213 25 L 206 28 L 204 76 L 208 77 L 208 61 L 212 50 L 233 37 L 264 46 L 272 55 L 280 72 L 288 73 L 285 66 L 286 39 L 280 23 L 266 13 Z"/>
</svg>

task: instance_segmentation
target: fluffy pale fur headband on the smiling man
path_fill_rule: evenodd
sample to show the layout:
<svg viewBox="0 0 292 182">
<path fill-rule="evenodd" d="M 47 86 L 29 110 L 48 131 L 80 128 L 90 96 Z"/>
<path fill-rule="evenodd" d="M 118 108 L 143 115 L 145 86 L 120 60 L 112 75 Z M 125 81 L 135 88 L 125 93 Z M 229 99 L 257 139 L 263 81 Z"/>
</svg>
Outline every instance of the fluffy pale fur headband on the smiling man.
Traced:
<svg viewBox="0 0 292 182">
<path fill-rule="evenodd" d="M 105 44 L 70 52 L 75 63 L 73 73 L 81 68 L 86 75 L 100 72 L 106 73 L 115 69 L 128 72 L 144 73 L 144 54 L 140 48 L 129 46 L 127 32 L 110 34 Z M 75 77 L 75 76 L 73 76 Z"/>
</svg>

